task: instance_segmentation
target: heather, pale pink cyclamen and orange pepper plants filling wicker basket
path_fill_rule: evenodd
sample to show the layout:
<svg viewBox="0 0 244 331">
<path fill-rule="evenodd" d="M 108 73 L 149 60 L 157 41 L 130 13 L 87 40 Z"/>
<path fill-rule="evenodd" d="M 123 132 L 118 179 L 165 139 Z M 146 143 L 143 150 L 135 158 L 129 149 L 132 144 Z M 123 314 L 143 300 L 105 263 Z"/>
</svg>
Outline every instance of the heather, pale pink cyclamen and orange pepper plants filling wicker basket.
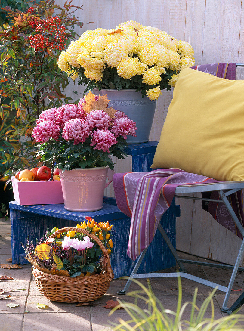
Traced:
<svg viewBox="0 0 244 331">
<path fill-rule="evenodd" d="M 87 222 L 76 224 L 76 228 L 86 229 L 95 234 L 103 243 L 110 255 L 113 251 L 111 229 L 113 225 L 107 222 L 96 223 L 87 216 Z M 37 241 L 36 245 L 27 240 L 24 247 L 27 259 L 37 268 L 47 273 L 76 277 L 93 276 L 104 272 L 104 255 L 98 243 L 81 232 L 68 231 L 50 238 L 50 234 L 59 229 L 53 228 L 51 232 Z"/>
</svg>

